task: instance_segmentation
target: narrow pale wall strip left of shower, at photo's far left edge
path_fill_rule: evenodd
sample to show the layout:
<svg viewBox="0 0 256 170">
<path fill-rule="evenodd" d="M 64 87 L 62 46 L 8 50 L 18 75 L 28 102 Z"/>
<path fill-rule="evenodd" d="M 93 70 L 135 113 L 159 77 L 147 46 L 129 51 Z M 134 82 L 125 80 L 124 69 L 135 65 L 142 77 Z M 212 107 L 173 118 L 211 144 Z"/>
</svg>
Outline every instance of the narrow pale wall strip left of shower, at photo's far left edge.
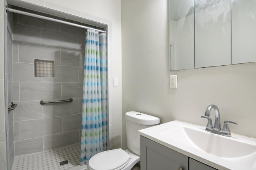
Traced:
<svg viewBox="0 0 256 170">
<path fill-rule="evenodd" d="M 0 0 L 0 167 L 6 170 L 6 132 L 4 99 L 4 0 Z"/>
</svg>

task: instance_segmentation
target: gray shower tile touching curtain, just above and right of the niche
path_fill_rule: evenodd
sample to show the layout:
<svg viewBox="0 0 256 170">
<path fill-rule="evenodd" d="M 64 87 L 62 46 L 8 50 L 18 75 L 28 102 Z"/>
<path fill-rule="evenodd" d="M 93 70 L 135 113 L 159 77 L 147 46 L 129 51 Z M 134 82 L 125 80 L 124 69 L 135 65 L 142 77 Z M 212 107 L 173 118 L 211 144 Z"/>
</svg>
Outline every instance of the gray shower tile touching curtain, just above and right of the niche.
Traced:
<svg viewBox="0 0 256 170">
<path fill-rule="evenodd" d="M 84 52 L 62 49 L 61 64 L 65 66 L 84 66 Z"/>
</svg>

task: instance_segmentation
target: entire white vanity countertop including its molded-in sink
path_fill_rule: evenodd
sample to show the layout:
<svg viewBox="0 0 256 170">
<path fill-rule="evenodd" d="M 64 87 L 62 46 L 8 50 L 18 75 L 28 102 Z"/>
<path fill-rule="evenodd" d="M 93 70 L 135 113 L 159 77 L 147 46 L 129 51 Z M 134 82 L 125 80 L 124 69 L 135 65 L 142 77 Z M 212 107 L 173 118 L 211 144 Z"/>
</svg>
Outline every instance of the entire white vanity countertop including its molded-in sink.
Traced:
<svg viewBox="0 0 256 170">
<path fill-rule="evenodd" d="M 140 135 L 218 170 L 256 170 L 256 139 L 205 131 L 205 127 L 171 121 L 142 129 Z"/>
</svg>

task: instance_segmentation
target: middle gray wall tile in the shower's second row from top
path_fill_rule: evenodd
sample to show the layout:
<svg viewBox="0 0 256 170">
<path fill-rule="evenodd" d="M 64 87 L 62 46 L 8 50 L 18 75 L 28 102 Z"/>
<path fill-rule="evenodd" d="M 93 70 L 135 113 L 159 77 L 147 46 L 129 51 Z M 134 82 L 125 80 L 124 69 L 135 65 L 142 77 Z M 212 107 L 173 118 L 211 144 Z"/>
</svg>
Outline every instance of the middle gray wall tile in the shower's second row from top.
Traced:
<svg viewBox="0 0 256 170">
<path fill-rule="evenodd" d="M 77 35 L 42 29 L 42 45 L 77 50 Z"/>
</svg>

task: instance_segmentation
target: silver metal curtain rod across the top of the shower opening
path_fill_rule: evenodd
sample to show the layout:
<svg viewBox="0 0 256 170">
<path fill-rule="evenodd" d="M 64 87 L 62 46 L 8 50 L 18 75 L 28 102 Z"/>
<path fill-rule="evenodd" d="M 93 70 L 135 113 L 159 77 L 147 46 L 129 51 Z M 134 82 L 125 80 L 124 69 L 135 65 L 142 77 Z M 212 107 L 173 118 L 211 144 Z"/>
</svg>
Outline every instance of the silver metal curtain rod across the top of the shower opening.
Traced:
<svg viewBox="0 0 256 170">
<path fill-rule="evenodd" d="M 96 28 L 92 28 L 92 27 L 87 27 L 87 26 L 79 25 L 79 24 L 72 23 L 72 22 L 57 20 L 57 19 L 54 19 L 54 18 L 40 16 L 40 15 L 37 15 L 37 14 L 32 14 L 32 13 L 29 13 L 29 12 L 15 10 L 15 9 L 8 8 L 8 7 L 6 7 L 5 9 L 6 9 L 6 12 L 14 12 L 14 13 L 17 13 L 17 14 L 23 14 L 23 15 L 26 15 L 26 16 L 32 16 L 32 17 L 35 17 L 35 18 L 40 18 L 40 19 L 44 19 L 44 20 L 60 22 L 60 23 L 64 23 L 64 24 L 67 24 L 67 25 L 72 25 L 72 26 L 75 26 L 75 27 L 80 27 L 80 28 L 85 28 L 85 29 L 93 29 L 93 30 L 99 31 L 101 33 L 106 33 L 106 31 L 104 31 L 104 30 L 100 30 L 100 29 L 96 29 Z"/>
</svg>

